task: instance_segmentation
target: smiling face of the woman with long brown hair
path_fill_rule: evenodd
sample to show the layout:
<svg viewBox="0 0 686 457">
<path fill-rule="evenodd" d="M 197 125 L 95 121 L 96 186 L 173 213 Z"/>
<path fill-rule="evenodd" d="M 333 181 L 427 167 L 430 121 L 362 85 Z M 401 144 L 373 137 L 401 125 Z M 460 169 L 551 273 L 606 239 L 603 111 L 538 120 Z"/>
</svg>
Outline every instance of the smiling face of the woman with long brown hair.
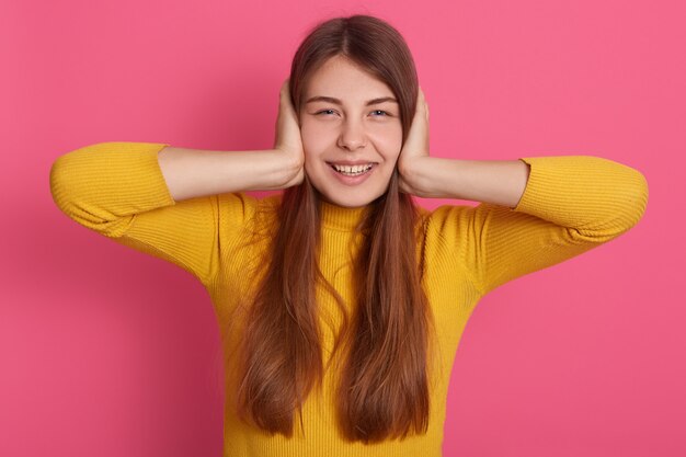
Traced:
<svg viewBox="0 0 686 457">
<path fill-rule="evenodd" d="M 311 76 L 299 116 L 305 172 L 327 202 L 359 207 L 386 192 L 402 124 L 385 82 L 332 57 Z"/>
</svg>

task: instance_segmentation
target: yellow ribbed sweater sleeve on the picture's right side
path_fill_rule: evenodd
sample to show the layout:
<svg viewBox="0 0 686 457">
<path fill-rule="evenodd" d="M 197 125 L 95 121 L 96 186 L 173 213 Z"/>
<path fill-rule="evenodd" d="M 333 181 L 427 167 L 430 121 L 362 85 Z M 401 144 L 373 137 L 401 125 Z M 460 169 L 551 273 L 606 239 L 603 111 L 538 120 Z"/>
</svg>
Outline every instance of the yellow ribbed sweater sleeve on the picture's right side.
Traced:
<svg viewBox="0 0 686 457">
<path fill-rule="evenodd" d="M 617 238 L 641 219 L 648 203 L 643 174 L 608 159 L 518 160 L 530 173 L 514 208 L 444 205 L 430 216 L 442 255 L 458 259 L 482 295 Z"/>
</svg>

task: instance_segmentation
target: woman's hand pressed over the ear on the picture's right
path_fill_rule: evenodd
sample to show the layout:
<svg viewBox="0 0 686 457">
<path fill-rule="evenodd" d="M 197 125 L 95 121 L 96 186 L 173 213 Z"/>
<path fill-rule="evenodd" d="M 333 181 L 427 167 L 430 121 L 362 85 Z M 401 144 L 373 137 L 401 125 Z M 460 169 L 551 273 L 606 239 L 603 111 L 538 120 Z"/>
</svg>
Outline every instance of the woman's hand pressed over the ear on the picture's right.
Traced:
<svg viewBox="0 0 686 457">
<path fill-rule="evenodd" d="M 428 165 L 428 105 L 424 99 L 422 88 L 416 98 L 416 110 L 408 138 L 398 157 L 398 172 L 400 174 L 400 192 L 416 196 L 428 196 L 422 191 L 418 182 L 421 165 Z"/>
</svg>

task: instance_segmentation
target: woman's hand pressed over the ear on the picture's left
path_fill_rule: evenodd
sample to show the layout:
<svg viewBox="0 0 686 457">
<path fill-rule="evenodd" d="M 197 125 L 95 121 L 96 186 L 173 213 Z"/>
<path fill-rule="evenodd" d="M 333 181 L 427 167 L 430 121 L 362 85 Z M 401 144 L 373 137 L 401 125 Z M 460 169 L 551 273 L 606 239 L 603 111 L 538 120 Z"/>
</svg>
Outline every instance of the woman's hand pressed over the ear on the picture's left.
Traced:
<svg viewBox="0 0 686 457">
<path fill-rule="evenodd" d="M 298 115 L 290 102 L 289 80 L 281 88 L 278 117 L 276 118 L 276 139 L 274 149 L 287 155 L 293 163 L 293 173 L 287 176 L 285 187 L 298 185 L 305 179 L 305 152 L 300 137 Z"/>
</svg>

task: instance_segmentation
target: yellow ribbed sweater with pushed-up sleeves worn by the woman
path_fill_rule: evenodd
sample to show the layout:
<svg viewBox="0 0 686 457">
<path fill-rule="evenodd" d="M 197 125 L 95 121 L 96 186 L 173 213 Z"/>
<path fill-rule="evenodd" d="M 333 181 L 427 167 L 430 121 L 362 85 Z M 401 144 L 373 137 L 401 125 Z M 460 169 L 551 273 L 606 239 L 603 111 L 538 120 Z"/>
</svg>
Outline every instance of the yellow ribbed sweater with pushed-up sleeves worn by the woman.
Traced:
<svg viewBox="0 0 686 457">
<path fill-rule="evenodd" d="M 167 144 L 102 142 L 59 157 L 50 170 L 53 198 L 78 224 L 113 240 L 172 262 L 207 288 L 219 320 L 225 352 L 240 335 L 230 332 L 237 297 L 247 293 L 251 262 L 265 243 L 245 245 L 247 229 L 271 217 L 281 194 L 255 198 L 244 193 L 174 202 L 157 153 Z M 629 230 L 642 217 L 648 183 L 637 170 L 592 156 L 519 159 L 530 175 L 518 205 L 443 205 L 427 218 L 421 249 L 422 284 L 435 316 L 441 375 L 432 379 L 428 432 L 404 441 L 364 445 L 344 442 L 335 425 L 331 393 L 335 375 L 327 373 L 321 395 L 304 404 L 304 432 L 295 418 L 295 435 L 270 436 L 225 414 L 225 456 L 441 456 L 448 380 L 462 330 L 481 297 L 518 276 L 579 255 Z M 260 215 L 260 216 L 256 216 Z M 346 248 L 361 209 L 322 207 L 320 266 L 350 302 L 351 269 Z M 323 313 L 324 351 L 331 350 L 339 323 L 331 295 L 318 293 Z M 227 405 L 232 370 L 227 363 Z"/>
</svg>

